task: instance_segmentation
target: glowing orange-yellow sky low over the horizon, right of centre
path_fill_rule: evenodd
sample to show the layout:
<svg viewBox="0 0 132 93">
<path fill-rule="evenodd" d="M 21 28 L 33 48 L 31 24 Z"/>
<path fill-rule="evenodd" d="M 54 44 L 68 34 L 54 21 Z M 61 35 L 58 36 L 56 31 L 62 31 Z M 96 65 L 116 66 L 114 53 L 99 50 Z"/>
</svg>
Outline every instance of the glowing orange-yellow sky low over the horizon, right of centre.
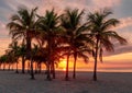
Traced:
<svg viewBox="0 0 132 93">
<path fill-rule="evenodd" d="M 66 60 L 65 60 L 66 61 Z M 66 62 L 59 65 L 59 69 L 64 69 Z M 73 62 L 70 60 L 69 68 L 72 70 Z M 90 58 L 88 63 L 81 59 L 77 61 L 77 70 L 92 71 L 94 59 Z M 132 72 L 132 53 L 120 54 L 109 57 L 103 57 L 103 62 L 98 61 L 98 71 L 106 72 Z"/>
</svg>

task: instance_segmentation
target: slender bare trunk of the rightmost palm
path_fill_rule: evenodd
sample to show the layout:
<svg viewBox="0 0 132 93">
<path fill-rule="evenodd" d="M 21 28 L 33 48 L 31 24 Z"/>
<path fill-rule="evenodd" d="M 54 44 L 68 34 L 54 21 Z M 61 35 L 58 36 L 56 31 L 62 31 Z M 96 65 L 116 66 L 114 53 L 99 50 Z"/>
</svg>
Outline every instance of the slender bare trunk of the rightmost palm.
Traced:
<svg viewBox="0 0 132 93">
<path fill-rule="evenodd" d="M 96 54 L 95 54 L 95 67 L 94 67 L 94 81 L 97 81 L 98 45 L 99 45 L 99 39 L 97 38 Z"/>
</svg>

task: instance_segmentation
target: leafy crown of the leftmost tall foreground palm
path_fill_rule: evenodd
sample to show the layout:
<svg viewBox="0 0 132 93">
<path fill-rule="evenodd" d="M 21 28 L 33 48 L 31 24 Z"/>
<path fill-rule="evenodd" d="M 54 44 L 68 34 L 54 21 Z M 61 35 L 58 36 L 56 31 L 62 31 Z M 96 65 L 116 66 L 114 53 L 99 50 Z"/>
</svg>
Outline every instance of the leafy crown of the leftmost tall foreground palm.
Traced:
<svg viewBox="0 0 132 93">
<path fill-rule="evenodd" d="M 25 8 L 20 8 L 18 13 L 11 16 L 11 22 L 8 23 L 7 27 L 10 30 L 9 34 L 12 35 L 12 38 L 26 37 L 28 32 L 35 32 L 37 24 L 35 18 L 36 10 L 37 8 L 34 8 L 30 12 Z"/>
</svg>

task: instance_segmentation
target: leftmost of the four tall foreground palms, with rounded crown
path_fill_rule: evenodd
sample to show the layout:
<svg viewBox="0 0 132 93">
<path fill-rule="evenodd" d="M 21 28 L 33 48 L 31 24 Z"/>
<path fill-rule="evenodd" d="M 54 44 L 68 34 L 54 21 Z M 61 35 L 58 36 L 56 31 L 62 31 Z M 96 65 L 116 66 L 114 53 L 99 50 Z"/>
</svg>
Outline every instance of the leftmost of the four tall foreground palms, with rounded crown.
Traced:
<svg viewBox="0 0 132 93">
<path fill-rule="evenodd" d="M 36 9 L 29 11 L 25 8 L 20 8 L 18 13 L 12 15 L 11 22 L 8 23 L 10 30 L 10 35 L 13 39 L 23 38 L 26 44 L 26 59 L 31 60 L 31 42 L 32 38 L 36 36 Z M 31 61 L 32 63 L 32 61 Z M 34 79 L 33 73 L 31 73 L 31 79 Z"/>
</svg>

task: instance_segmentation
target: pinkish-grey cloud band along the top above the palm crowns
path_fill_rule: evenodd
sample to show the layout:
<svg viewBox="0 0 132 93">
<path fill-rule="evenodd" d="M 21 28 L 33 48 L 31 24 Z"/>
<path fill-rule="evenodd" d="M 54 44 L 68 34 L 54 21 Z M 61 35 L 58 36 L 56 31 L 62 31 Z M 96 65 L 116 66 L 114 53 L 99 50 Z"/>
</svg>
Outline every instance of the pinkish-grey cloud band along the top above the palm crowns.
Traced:
<svg viewBox="0 0 132 93">
<path fill-rule="evenodd" d="M 57 12 L 63 12 L 66 8 L 78 8 L 80 10 L 97 10 L 105 7 L 113 7 L 119 4 L 120 0 L 13 0 L 9 3 L 6 0 L 4 3 L 10 7 L 10 9 L 16 11 L 18 7 L 25 5 L 29 9 L 38 7 L 38 13 L 43 14 L 45 10 L 51 10 L 55 8 Z M 30 5 L 29 5 L 30 4 Z"/>
</svg>

